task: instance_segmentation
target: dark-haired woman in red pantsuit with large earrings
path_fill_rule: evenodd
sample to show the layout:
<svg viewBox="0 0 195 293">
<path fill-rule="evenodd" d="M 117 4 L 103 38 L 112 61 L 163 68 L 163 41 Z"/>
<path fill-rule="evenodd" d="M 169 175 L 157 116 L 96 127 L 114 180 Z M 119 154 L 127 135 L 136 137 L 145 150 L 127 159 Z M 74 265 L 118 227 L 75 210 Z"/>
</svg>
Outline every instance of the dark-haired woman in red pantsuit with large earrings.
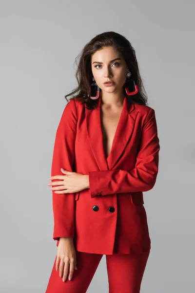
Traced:
<svg viewBox="0 0 195 293">
<path fill-rule="evenodd" d="M 158 172 L 155 111 L 135 50 L 116 32 L 84 46 L 77 80 L 48 184 L 58 252 L 46 293 L 85 293 L 103 254 L 109 293 L 138 293 L 151 248 L 143 191 Z"/>
</svg>

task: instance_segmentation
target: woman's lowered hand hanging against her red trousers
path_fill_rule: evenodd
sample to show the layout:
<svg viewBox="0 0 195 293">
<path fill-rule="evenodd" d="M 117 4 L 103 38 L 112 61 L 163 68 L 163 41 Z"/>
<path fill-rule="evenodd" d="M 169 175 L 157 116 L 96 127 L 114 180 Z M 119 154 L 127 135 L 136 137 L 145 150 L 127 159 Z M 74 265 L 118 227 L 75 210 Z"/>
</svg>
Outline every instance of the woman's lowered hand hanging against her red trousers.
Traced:
<svg viewBox="0 0 195 293">
<path fill-rule="evenodd" d="M 59 264 L 60 263 L 60 264 Z M 74 270 L 77 268 L 76 252 L 72 237 L 60 237 L 59 246 L 56 258 L 56 271 L 59 269 L 59 276 L 63 277 L 64 282 L 67 278 L 72 279 Z M 69 268 L 70 266 L 70 268 Z"/>
</svg>

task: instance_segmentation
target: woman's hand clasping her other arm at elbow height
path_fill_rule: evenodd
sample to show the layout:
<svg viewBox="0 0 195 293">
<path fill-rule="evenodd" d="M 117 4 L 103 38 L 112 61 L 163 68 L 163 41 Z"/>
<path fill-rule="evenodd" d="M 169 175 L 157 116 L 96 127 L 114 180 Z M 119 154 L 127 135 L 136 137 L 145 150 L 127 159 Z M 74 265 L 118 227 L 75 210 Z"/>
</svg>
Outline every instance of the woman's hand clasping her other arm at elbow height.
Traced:
<svg viewBox="0 0 195 293">
<path fill-rule="evenodd" d="M 66 171 L 62 168 L 61 172 L 65 175 L 56 175 L 49 178 L 51 180 L 61 180 L 48 184 L 48 186 L 55 186 L 50 188 L 55 193 L 74 193 L 89 188 L 89 175 Z"/>
</svg>

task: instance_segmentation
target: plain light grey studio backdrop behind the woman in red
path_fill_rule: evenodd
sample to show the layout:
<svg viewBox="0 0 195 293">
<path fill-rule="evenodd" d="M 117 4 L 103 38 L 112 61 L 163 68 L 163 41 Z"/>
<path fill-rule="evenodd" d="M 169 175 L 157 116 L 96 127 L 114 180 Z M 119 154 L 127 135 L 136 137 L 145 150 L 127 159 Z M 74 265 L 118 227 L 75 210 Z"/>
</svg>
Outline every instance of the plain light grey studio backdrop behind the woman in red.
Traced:
<svg viewBox="0 0 195 293">
<path fill-rule="evenodd" d="M 44 293 L 57 252 L 50 182 L 55 133 L 86 42 L 114 30 L 136 49 L 160 140 L 144 192 L 151 253 L 142 293 L 194 289 L 193 1 L 0 0 L 0 292 Z M 105 255 L 88 289 L 108 292 Z"/>
</svg>

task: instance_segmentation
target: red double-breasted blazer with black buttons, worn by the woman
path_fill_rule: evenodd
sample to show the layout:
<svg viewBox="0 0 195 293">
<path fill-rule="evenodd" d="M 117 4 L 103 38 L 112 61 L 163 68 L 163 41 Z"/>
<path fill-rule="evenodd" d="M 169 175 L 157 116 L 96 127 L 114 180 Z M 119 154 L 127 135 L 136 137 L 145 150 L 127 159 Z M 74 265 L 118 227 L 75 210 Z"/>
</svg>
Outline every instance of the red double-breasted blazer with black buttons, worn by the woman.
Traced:
<svg viewBox="0 0 195 293">
<path fill-rule="evenodd" d="M 113 254 L 150 250 L 143 191 L 158 172 L 155 111 L 125 96 L 111 152 L 106 158 L 97 109 L 72 99 L 56 132 L 51 176 L 60 168 L 89 175 L 90 188 L 53 193 L 53 239 L 73 237 L 78 251 Z M 52 180 L 58 181 L 58 180 Z"/>
</svg>

